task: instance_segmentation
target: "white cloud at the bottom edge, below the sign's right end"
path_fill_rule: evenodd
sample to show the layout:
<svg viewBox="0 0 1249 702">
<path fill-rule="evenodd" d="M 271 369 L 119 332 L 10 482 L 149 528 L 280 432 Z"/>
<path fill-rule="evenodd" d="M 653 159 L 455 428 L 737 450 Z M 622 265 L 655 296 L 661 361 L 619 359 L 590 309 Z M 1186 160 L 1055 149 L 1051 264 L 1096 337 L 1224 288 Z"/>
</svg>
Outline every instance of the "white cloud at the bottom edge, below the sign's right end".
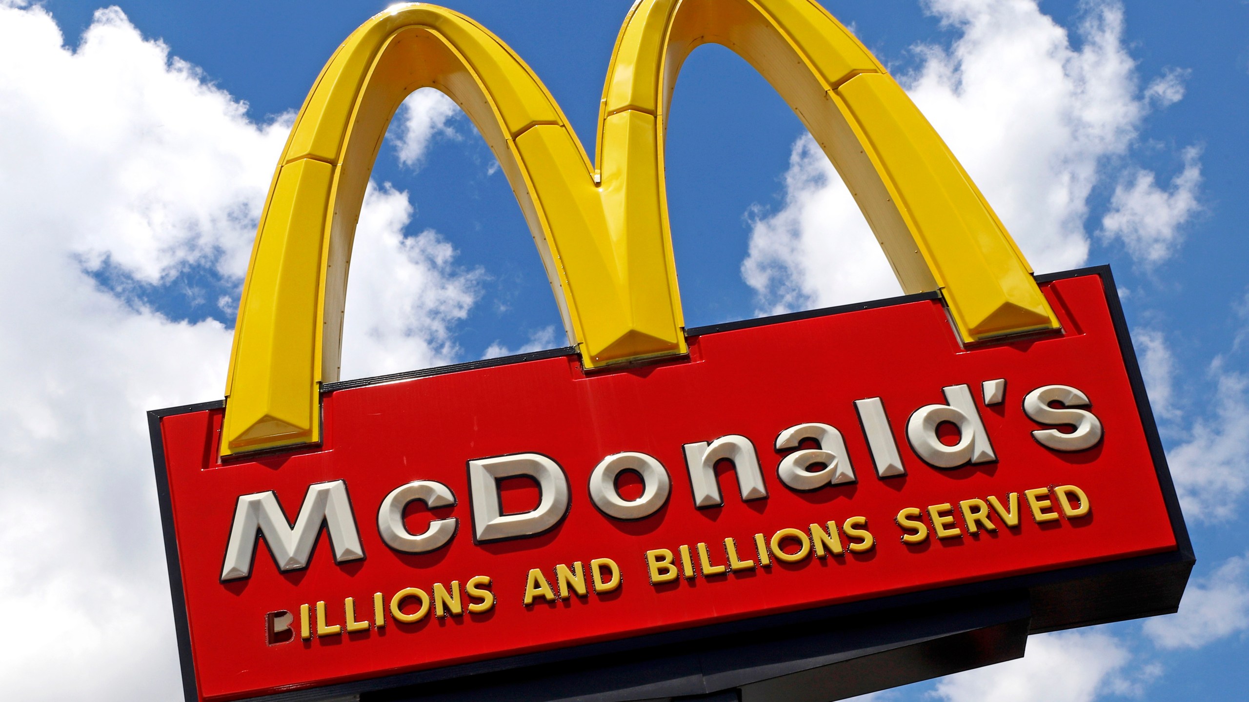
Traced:
<svg viewBox="0 0 1249 702">
<path fill-rule="evenodd" d="M 1028 640 L 1025 657 L 944 677 L 933 695 L 949 702 L 1090 702 L 1133 688 L 1124 675 L 1130 658 L 1103 632 L 1044 633 Z"/>
</svg>

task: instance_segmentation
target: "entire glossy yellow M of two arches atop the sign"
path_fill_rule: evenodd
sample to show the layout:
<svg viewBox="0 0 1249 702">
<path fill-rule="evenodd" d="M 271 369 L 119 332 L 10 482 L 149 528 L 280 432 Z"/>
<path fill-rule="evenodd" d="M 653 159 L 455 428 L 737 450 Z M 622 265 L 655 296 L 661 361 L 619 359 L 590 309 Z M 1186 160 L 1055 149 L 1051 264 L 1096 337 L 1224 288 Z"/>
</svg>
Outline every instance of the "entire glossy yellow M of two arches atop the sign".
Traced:
<svg viewBox="0 0 1249 702">
<path fill-rule="evenodd" d="M 1057 327 L 993 210 L 898 84 L 813 0 L 641 0 L 617 37 L 592 165 L 532 70 L 473 20 L 388 9 L 326 64 L 291 130 L 244 284 L 221 452 L 320 440 L 365 186 L 420 87 L 467 112 L 507 174 L 586 367 L 686 351 L 663 177 L 681 64 L 722 44 L 821 144 L 907 292 L 942 290 L 964 341 Z M 597 167 L 596 167 L 597 166 Z"/>
</svg>

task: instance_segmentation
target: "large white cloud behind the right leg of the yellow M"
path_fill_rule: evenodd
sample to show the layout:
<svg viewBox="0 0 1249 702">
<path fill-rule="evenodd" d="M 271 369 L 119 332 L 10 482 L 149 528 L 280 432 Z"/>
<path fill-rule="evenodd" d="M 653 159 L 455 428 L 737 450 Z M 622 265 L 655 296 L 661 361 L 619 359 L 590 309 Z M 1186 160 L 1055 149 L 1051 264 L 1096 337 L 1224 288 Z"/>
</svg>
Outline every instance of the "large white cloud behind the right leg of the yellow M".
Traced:
<svg viewBox="0 0 1249 702">
<path fill-rule="evenodd" d="M 901 81 L 958 155 L 1038 271 L 1084 264 L 1089 196 L 1115 182 L 1152 106 L 1183 96 L 1183 71 L 1144 91 L 1123 39 L 1118 2 L 1084 4 L 1074 35 L 1034 0 L 929 0 L 957 30 L 948 46 L 921 45 L 921 66 Z M 1133 256 L 1164 259 L 1195 210 L 1198 152 L 1160 190 L 1132 169 L 1104 225 Z M 1138 185 L 1139 181 L 1139 185 Z M 761 312 L 897 294 L 884 256 L 853 199 L 808 136 L 793 146 L 779 210 L 751 212 L 742 275 Z M 1163 217 L 1147 224 L 1152 209 Z M 1155 212 L 1154 212 L 1155 214 Z"/>
</svg>

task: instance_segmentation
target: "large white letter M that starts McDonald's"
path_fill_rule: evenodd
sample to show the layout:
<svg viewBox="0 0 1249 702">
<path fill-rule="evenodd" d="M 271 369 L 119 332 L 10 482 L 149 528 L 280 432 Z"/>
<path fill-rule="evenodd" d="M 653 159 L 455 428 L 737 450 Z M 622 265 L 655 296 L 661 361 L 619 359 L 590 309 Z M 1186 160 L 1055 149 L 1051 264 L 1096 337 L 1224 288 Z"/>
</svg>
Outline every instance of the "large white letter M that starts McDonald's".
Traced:
<svg viewBox="0 0 1249 702">
<path fill-rule="evenodd" d="M 295 526 L 286 520 L 272 491 L 240 496 L 226 545 L 226 561 L 221 567 L 222 582 L 251 577 L 251 563 L 261 537 L 269 545 L 277 570 L 306 568 L 322 525 L 330 532 L 336 563 L 365 557 L 360 531 L 351 513 L 347 483 L 341 480 L 309 486 Z"/>
</svg>

